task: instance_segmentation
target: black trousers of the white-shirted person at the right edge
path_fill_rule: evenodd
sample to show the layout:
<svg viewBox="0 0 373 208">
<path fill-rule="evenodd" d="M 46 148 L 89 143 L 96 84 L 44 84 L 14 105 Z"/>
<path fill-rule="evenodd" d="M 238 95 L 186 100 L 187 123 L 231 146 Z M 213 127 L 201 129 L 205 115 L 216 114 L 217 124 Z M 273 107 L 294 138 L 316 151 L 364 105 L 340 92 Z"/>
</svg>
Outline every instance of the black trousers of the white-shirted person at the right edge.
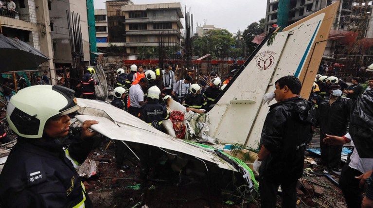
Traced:
<svg viewBox="0 0 373 208">
<path fill-rule="evenodd" d="M 350 156 L 347 163 L 343 166 L 339 178 L 339 188 L 342 190 L 344 199 L 348 208 L 360 208 L 361 200 L 363 200 L 363 191 L 359 188 L 359 176 L 363 173 L 348 166 L 350 164 Z"/>
</svg>

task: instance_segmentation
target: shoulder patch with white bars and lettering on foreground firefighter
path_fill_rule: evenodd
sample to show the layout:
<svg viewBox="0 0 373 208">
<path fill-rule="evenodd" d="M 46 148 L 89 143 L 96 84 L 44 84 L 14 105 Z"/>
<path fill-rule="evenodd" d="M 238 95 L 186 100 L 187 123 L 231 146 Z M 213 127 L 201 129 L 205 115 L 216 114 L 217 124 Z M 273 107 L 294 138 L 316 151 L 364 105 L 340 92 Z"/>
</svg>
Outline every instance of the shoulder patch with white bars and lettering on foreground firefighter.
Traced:
<svg viewBox="0 0 373 208">
<path fill-rule="evenodd" d="M 40 158 L 29 158 L 25 161 L 27 186 L 35 186 L 47 180 Z"/>
</svg>

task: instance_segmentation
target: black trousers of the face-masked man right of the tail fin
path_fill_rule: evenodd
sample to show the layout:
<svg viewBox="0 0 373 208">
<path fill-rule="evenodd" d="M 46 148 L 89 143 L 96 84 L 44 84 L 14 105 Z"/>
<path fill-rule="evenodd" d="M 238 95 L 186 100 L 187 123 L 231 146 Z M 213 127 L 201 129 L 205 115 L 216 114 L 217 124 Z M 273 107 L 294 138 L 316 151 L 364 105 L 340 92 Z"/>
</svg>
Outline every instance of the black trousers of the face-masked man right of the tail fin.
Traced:
<svg viewBox="0 0 373 208">
<path fill-rule="evenodd" d="M 340 156 L 342 154 L 342 145 L 328 145 L 323 139 L 325 134 L 320 134 L 320 152 L 321 161 L 326 163 L 326 167 L 330 170 L 340 167 Z"/>
</svg>

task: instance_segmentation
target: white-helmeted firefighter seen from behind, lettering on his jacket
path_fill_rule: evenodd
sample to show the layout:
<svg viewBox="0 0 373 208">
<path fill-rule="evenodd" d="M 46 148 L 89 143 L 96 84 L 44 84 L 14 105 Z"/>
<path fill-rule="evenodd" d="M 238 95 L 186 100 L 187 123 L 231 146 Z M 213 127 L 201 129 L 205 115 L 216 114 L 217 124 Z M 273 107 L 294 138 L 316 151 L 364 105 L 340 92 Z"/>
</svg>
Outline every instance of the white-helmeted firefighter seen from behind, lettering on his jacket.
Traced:
<svg viewBox="0 0 373 208">
<path fill-rule="evenodd" d="M 141 120 L 162 130 L 162 121 L 169 119 L 169 114 L 165 105 L 160 104 L 160 89 L 157 86 L 148 90 L 147 103 L 142 106 Z"/>
</svg>

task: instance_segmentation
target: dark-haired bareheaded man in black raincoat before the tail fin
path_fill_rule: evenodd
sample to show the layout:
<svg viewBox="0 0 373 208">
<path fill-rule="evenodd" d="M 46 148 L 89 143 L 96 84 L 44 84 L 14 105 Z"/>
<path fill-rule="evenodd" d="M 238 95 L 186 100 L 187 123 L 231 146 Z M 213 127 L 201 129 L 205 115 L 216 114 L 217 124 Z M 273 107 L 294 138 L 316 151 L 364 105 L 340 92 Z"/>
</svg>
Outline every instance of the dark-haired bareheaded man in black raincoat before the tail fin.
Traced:
<svg viewBox="0 0 373 208">
<path fill-rule="evenodd" d="M 275 87 L 270 93 L 274 94 L 277 103 L 269 106 L 253 171 L 259 175 L 262 208 L 276 207 L 280 185 L 282 207 L 295 208 L 304 151 L 312 137 L 312 105 L 299 95 L 302 84 L 295 76 L 280 78 Z"/>
</svg>

